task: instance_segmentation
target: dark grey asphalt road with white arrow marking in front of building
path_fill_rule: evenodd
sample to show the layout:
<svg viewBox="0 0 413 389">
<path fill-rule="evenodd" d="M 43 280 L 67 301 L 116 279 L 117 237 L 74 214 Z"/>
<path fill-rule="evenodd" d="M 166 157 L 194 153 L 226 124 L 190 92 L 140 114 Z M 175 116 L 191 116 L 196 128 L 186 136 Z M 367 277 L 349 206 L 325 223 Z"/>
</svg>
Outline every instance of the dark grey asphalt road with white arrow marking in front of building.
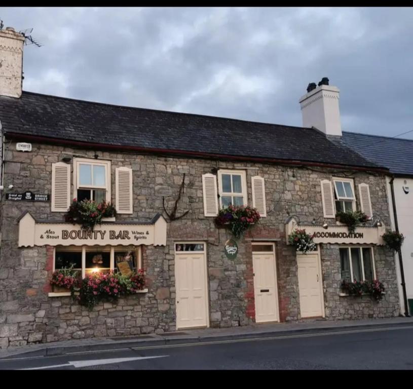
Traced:
<svg viewBox="0 0 413 389">
<path fill-rule="evenodd" d="M 0 359 L 1 370 L 413 369 L 413 326 Z"/>
</svg>

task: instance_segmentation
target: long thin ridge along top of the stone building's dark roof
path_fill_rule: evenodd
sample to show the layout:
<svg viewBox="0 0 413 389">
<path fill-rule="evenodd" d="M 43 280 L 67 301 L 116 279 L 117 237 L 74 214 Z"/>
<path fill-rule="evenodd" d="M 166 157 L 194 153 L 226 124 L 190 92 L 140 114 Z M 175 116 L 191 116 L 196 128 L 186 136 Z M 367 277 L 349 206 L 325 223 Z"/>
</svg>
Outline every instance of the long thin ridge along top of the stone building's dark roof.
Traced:
<svg viewBox="0 0 413 389">
<path fill-rule="evenodd" d="M 166 113 L 172 113 L 172 114 L 178 114 L 178 115 L 198 116 L 198 117 L 200 117 L 200 118 L 230 120 L 230 121 L 234 121 L 234 122 L 252 123 L 252 124 L 256 123 L 256 124 L 266 125 L 266 126 L 279 126 L 279 127 L 285 127 L 285 128 L 299 128 L 299 129 L 302 129 L 302 130 L 312 130 L 312 131 L 314 131 L 314 129 L 311 128 L 311 127 L 289 126 L 289 125 L 286 125 L 286 124 L 267 123 L 267 122 L 256 122 L 256 121 L 236 119 L 236 118 L 224 118 L 223 116 L 204 115 L 204 114 L 201 114 L 201 113 L 177 112 L 177 111 L 168 111 L 168 110 L 164 110 L 164 109 L 132 107 L 132 106 L 129 106 L 129 105 L 118 105 L 118 104 L 102 103 L 102 102 L 98 102 L 98 101 L 80 100 L 80 99 L 74 99 L 74 98 L 71 98 L 71 97 L 63 97 L 63 96 L 55 96 L 55 95 L 46 95 L 46 94 L 43 94 L 43 93 L 36 93 L 36 92 L 29 92 L 29 91 L 23 91 L 23 94 L 30 94 L 30 95 L 35 95 L 35 96 L 53 97 L 53 98 L 58 98 L 58 99 L 62 99 L 62 100 L 78 101 L 78 102 L 80 102 L 80 103 L 98 104 L 98 105 L 105 105 L 105 106 L 117 107 L 117 108 L 139 109 L 139 110 L 152 111 L 152 112 L 166 112 Z"/>
</svg>

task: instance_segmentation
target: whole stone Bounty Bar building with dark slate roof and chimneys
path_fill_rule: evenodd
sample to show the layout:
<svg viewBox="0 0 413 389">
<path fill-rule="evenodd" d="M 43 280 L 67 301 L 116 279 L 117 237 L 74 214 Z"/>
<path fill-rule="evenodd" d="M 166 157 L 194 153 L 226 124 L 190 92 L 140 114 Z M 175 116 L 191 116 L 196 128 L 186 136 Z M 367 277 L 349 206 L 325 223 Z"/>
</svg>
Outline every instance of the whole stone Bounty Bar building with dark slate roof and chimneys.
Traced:
<svg viewBox="0 0 413 389">
<path fill-rule="evenodd" d="M 381 238 L 388 170 L 329 139 L 341 131 L 336 88 L 301 99 L 305 127 L 115 106 L 22 92 L 22 45 L 0 32 L 1 347 L 398 315 Z M 73 198 L 110 201 L 117 215 L 88 234 L 65 221 Z M 215 224 L 228 204 L 261 216 L 239 239 Z M 369 220 L 350 234 L 340 209 Z M 287 244 L 296 227 L 315 234 L 315 251 Z M 89 310 L 53 292 L 55 269 L 117 270 L 126 253 L 144 269 L 139 293 Z M 342 278 L 380 279 L 386 294 L 349 296 Z"/>
</svg>

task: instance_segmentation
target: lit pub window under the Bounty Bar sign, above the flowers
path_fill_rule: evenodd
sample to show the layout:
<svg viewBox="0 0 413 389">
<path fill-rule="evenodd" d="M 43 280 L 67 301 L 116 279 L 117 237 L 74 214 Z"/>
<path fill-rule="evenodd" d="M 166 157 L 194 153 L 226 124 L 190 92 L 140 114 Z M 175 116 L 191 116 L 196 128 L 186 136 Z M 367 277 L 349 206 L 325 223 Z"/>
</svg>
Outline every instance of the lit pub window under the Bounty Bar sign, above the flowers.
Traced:
<svg viewBox="0 0 413 389">
<path fill-rule="evenodd" d="M 136 273 L 142 267 L 139 246 L 56 246 L 54 269 L 81 270 L 82 277 L 92 273 L 118 271 L 118 262 L 127 260 Z"/>
</svg>

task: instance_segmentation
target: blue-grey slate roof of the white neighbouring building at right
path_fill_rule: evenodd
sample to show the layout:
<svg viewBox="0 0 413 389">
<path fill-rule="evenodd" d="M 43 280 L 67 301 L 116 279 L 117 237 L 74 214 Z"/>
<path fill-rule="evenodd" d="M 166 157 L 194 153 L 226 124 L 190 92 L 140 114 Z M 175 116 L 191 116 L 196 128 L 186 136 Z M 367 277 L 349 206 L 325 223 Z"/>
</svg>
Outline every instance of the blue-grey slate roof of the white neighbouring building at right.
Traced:
<svg viewBox="0 0 413 389">
<path fill-rule="evenodd" d="M 341 143 L 391 173 L 413 176 L 413 140 L 345 131 Z"/>
</svg>

